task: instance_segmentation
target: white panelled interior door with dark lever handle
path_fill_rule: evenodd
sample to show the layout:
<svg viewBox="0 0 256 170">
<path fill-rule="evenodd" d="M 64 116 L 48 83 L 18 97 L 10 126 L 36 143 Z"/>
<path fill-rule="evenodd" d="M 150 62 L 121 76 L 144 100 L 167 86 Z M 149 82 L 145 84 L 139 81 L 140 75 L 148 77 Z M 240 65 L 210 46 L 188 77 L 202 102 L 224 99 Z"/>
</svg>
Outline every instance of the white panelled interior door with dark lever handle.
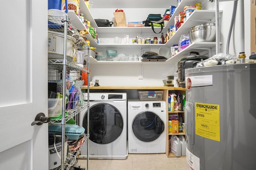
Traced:
<svg viewBox="0 0 256 170">
<path fill-rule="evenodd" d="M 47 170 L 47 1 L 1 1 L 0 169 Z"/>
</svg>

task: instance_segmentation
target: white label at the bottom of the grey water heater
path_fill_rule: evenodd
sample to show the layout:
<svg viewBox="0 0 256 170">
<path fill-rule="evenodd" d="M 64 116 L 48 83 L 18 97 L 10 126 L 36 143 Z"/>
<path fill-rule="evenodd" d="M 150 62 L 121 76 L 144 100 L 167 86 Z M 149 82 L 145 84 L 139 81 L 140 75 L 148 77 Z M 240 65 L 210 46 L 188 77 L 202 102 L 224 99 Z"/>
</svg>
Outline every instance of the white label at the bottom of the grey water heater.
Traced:
<svg viewBox="0 0 256 170">
<path fill-rule="evenodd" d="M 188 170 L 200 170 L 200 158 L 192 154 L 188 148 L 186 148 L 186 159 Z"/>
</svg>

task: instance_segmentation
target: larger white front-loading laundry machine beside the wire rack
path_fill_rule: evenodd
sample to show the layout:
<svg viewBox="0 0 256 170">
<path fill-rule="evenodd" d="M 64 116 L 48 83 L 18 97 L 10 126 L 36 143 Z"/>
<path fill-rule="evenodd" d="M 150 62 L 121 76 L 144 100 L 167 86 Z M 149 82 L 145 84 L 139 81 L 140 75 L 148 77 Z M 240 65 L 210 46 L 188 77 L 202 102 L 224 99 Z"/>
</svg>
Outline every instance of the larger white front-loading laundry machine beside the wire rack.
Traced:
<svg viewBox="0 0 256 170">
<path fill-rule="evenodd" d="M 90 93 L 89 100 L 89 158 L 125 159 L 128 156 L 126 93 Z M 88 109 L 80 113 L 80 126 L 85 128 L 85 133 L 87 113 Z M 79 158 L 87 158 L 87 142 Z"/>
</svg>

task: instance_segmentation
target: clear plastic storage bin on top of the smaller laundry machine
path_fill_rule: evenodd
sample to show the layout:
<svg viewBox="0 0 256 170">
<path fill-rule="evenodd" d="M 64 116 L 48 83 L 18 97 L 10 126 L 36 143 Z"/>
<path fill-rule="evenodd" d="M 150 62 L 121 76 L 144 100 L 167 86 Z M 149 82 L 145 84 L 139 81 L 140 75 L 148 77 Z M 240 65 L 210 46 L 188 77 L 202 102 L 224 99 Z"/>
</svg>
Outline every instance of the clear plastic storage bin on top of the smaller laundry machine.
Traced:
<svg viewBox="0 0 256 170">
<path fill-rule="evenodd" d="M 164 91 L 138 91 L 141 101 L 162 100 Z"/>
</svg>

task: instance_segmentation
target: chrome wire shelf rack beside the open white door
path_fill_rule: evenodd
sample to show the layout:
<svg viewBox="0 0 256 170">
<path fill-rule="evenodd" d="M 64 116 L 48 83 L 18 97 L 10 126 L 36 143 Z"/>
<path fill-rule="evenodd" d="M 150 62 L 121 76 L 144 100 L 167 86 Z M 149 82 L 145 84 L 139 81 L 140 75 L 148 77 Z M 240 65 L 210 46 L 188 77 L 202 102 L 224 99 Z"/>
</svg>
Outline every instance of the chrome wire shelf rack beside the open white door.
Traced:
<svg viewBox="0 0 256 170">
<path fill-rule="evenodd" d="M 71 36 L 69 38 L 71 39 L 74 45 L 73 46 L 74 51 L 81 47 L 83 48 L 86 47 L 86 49 L 89 48 L 89 46 L 86 45 L 86 41 L 84 40 L 85 36 L 82 36 L 78 32 L 78 30 L 76 30 L 76 28 L 70 22 L 70 18 L 68 18 L 68 16 L 66 15 L 48 16 L 48 34 L 58 34 L 60 36 L 63 36 L 64 37 L 63 49 L 65 50 L 67 48 L 66 40 L 67 40 L 67 37 L 69 36 Z M 89 73 L 89 70 L 76 65 L 75 63 L 73 63 L 73 61 L 72 62 L 67 61 L 66 56 L 63 54 L 63 59 L 61 56 L 60 56 L 61 59 L 48 59 L 48 87 L 49 87 L 49 84 L 52 85 L 53 87 L 55 87 L 55 84 L 57 86 L 56 87 L 57 90 L 50 91 L 50 93 L 48 91 L 48 98 L 53 98 L 53 99 L 62 98 L 61 100 L 62 102 L 61 103 L 58 102 L 55 105 L 55 107 L 57 107 L 58 110 L 57 109 L 54 110 L 52 114 L 53 116 L 49 114 L 49 108 L 48 108 L 48 117 L 51 118 L 49 123 L 62 124 L 64 122 L 62 124 L 62 151 L 66 149 L 64 148 L 64 134 L 65 134 L 64 129 L 65 129 L 66 122 L 72 118 L 76 119 L 77 115 L 79 115 L 79 113 L 82 110 L 89 107 L 89 103 L 84 101 L 84 96 L 82 93 L 82 85 L 84 84 L 84 80 L 82 80 L 82 73 L 84 72 Z M 76 56 L 74 56 L 73 60 L 74 61 L 76 60 Z M 50 94 L 50 97 L 49 97 L 49 94 Z M 54 96 L 55 94 L 56 94 L 56 97 Z M 51 95 L 53 95 L 53 97 Z M 48 103 L 49 103 L 49 99 L 48 99 Z M 63 120 L 63 117 L 65 117 L 64 120 Z M 84 138 L 88 140 L 88 136 L 89 134 L 85 134 Z M 76 161 L 76 156 L 80 153 L 80 150 L 83 147 L 83 145 L 84 143 L 80 146 L 80 148 L 78 148 L 78 150 L 70 152 L 66 160 L 64 160 L 65 158 L 63 154 L 64 152 L 62 152 L 61 166 L 59 166 L 58 168 L 55 168 L 54 170 L 70 169 L 70 167 L 72 167 L 72 165 Z"/>
</svg>

